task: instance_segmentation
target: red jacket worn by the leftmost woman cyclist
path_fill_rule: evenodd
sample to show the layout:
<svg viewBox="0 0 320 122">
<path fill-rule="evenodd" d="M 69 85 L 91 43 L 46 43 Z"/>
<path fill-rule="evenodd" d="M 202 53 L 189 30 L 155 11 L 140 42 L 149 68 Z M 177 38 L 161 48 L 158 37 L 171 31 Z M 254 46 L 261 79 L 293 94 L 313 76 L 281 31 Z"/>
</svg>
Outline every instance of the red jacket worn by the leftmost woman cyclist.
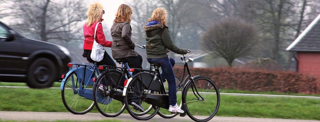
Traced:
<svg viewBox="0 0 320 122">
<path fill-rule="evenodd" d="M 90 25 L 90 27 L 87 27 L 87 25 L 86 25 L 87 23 L 85 23 L 83 25 L 83 34 L 84 34 L 83 49 L 92 50 L 94 29 L 95 29 L 97 23 L 98 22 L 92 23 Z M 106 40 L 101 23 L 97 27 L 95 40 L 96 40 L 96 42 L 98 42 L 100 45 L 102 45 L 104 47 L 111 47 L 111 45 L 112 45 L 112 41 Z"/>
</svg>

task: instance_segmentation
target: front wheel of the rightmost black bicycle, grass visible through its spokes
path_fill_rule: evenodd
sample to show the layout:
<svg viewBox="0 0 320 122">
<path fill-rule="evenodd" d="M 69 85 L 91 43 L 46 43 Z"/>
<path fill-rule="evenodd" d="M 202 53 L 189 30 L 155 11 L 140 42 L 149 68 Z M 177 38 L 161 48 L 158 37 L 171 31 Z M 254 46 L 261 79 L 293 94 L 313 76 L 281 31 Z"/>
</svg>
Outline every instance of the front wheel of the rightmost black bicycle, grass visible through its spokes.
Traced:
<svg viewBox="0 0 320 122">
<path fill-rule="evenodd" d="M 186 103 L 188 116 L 199 122 L 212 119 L 220 105 L 219 90 L 213 81 L 206 77 L 197 77 L 194 83 L 188 83 L 185 90 L 183 101 Z"/>
</svg>

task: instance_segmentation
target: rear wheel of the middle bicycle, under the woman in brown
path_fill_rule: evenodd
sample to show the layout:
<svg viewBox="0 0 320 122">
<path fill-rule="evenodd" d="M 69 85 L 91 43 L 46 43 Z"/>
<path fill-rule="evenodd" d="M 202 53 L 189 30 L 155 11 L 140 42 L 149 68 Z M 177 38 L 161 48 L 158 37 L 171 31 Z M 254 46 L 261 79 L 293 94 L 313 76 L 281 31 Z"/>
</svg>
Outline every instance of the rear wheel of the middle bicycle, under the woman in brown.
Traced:
<svg viewBox="0 0 320 122">
<path fill-rule="evenodd" d="M 107 75 L 110 76 L 110 80 L 108 81 Z M 125 109 L 124 103 L 118 100 L 114 100 L 111 96 L 112 92 L 115 90 L 115 84 L 120 80 L 121 72 L 109 69 L 109 74 L 106 72 L 102 72 L 98 78 L 96 83 L 94 83 L 93 88 L 93 99 L 98 111 L 106 117 L 116 117 L 119 116 Z M 124 79 L 123 79 L 124 80 Z M 122 82 L 121 82 L 122 83 Z M 111 85 L 112 84 L 112 85 Z M 121 89 L 118 89 L 117 92 L 121 92 Z"/>
</svg>

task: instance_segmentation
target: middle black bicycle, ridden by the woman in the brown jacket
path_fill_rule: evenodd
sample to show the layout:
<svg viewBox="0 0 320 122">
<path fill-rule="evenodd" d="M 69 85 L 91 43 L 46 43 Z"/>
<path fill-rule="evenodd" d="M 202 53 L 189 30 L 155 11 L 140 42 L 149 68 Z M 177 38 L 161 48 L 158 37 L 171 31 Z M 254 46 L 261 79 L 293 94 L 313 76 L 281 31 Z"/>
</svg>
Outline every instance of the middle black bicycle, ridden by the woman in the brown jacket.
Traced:
<svg viewBox="0 0 320 122">
<path fill-rule="evenodd" d="M 99 66 L 98 69 L 102 73 L 93 79 L 95 83 L 92 92 L 95 106 L 106 117 L 116 117 L 124 111 L 123 89 L 133 72 L 126 61 L 116 60 L 116 62 L 121 64 L 121 67 Z M 132 102 L 139 103 L 138 100 L 135 99 Z M 152 105 L 149 105 L 145 111 L 136 111 L 134 114 L 141 116 L 150 111 L 152 111 Z"/>
</svg>

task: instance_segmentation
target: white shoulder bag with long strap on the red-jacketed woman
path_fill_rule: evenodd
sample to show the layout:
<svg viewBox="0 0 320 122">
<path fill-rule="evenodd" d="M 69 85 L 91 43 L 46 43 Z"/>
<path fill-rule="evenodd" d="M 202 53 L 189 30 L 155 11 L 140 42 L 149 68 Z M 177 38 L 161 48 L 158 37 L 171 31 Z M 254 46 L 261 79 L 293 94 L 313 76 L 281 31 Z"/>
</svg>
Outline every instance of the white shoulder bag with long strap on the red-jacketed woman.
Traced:
<svg viewBox="0 0 320 122">
<path fill-rule="evenodd" d="M 100 22 L 99 22 L 100 23 Z M 96 42 L 96 32 L 97 32 L 97 27 L 99 25 L 99 23 L 97 23 L 96 28 L 94 29 L 94 38 L 93 38 L 93 45 L 92 45 L 92 51 L 90 54 L 90 57 L 93 61 L 101 61 L 103 59 L 103 55 L 105 50 L 103 49 L 103 46 L 100 45 L 99 43 Z"/>
</svg>

